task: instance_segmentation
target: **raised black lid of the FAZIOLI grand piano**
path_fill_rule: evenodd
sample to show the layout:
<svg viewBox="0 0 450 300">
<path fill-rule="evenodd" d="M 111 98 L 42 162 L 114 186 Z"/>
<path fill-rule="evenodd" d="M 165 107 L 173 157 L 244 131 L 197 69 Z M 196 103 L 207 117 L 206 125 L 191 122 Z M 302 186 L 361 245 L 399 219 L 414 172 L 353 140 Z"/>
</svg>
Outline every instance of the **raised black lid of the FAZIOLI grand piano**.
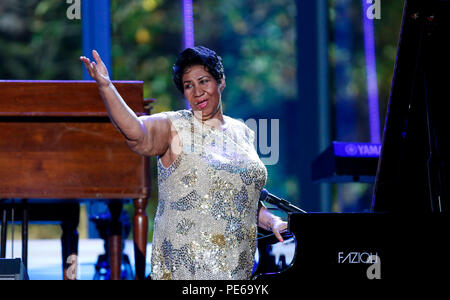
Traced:
<svg viewBox="0 0 450 300">
<path fill-rule="evenodd" d="M 405 1 L 374 211 L 448 211 L 449 24 L 450 1 Z"/>
</svg>

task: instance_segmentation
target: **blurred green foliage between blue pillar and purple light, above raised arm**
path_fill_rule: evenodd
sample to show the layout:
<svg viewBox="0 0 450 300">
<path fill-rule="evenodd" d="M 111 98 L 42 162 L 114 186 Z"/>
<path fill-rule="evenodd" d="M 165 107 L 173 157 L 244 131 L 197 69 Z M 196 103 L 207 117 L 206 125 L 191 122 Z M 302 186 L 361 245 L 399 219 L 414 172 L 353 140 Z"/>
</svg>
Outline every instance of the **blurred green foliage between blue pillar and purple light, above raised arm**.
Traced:
<svg viewBox="0 0 450 300">
<path fill-rule="evenodd" d="M 113 76 L 144 80 L 144 97 L 155 98 L 153 113 L 183 108 L 172 83 L 172 65 L 181 51 L 179 1 L 111 1 Z"/>
</svg>

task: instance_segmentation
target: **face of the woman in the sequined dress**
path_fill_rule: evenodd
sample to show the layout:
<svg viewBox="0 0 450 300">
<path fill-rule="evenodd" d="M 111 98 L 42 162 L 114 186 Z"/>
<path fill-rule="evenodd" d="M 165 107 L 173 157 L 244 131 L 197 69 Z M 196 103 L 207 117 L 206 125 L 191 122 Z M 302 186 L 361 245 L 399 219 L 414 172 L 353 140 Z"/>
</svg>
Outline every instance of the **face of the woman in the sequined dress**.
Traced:
<svg viewBox="0 0 450 300">
<path fill-rule="evenodd" d="M 202 65 L 188 67 L 183 74 L 184 96 L 197 118 L 208 120 L 221 112 L 221 95 L 225 79 L 218 84 Z"/>
</svg>

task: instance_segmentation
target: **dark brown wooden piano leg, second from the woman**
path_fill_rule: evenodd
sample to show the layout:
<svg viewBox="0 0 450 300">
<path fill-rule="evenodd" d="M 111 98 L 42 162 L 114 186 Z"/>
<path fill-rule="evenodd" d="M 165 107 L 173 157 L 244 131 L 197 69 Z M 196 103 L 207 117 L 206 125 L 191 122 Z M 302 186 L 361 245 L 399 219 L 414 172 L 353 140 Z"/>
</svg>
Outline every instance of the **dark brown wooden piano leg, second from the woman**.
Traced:
<svg viewBox="0 0 450 300">
<path fill-rule="evenodd" d="M 108 232 L 111 280 L 120 280 L 122 273 L 122 222 L 120 221 L 120 214 L 123 204 L 121 201 L 111 201 L 108 208 L 111 214 L 111 225 Z"/>
</svg>

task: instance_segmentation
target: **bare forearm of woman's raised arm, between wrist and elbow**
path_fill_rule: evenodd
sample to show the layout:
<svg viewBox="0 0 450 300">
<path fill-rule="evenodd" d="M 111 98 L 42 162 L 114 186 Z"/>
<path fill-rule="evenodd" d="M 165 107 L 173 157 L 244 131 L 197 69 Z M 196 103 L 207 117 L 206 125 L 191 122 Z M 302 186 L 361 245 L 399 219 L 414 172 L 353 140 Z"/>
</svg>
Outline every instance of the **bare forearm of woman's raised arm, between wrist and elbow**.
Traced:
<svg viewBox="0 0 450 300">
<path fill-rule="evenodd" d="M 99 87 L 109 118 L 114 126 L 129 142 L 142 141 L 145 136 L 145 126 L 133 110 L 125 103 L 111 83 L 106 87 Z"/>
</svg>

